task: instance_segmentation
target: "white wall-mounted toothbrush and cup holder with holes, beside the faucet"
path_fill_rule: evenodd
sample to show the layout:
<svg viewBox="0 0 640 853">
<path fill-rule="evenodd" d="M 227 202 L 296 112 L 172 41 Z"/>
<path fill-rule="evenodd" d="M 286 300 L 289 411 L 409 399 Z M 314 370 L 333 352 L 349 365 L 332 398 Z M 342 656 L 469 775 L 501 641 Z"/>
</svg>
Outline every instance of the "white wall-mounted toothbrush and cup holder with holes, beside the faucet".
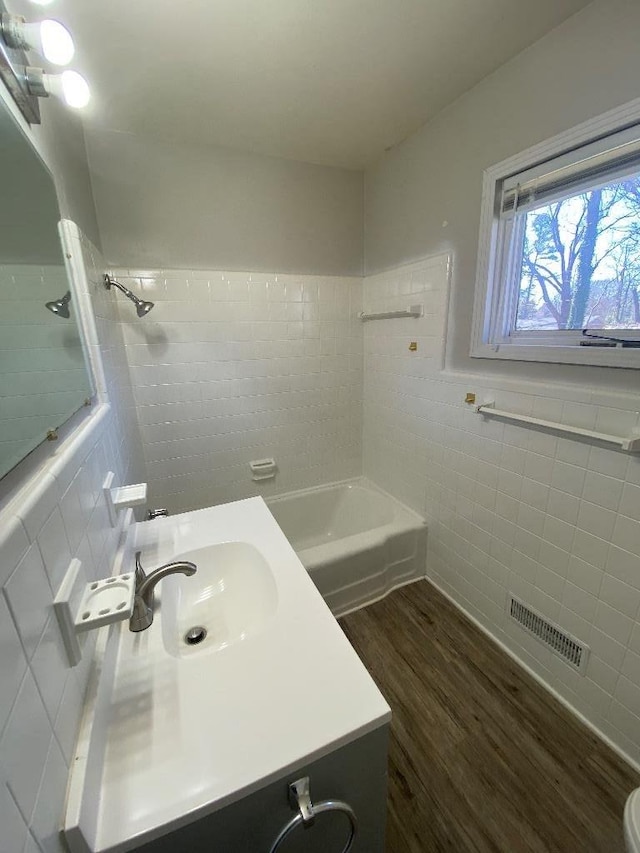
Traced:
<svg viewBox="0 0 640 853">
<path fill-rule="evenodd" d="M 135 572 L 87 581 L 82 563 L 73 559 L 53 602 L 71 666 L 82 659 L 80 635 L 131 617 Z"/>
</svg>

